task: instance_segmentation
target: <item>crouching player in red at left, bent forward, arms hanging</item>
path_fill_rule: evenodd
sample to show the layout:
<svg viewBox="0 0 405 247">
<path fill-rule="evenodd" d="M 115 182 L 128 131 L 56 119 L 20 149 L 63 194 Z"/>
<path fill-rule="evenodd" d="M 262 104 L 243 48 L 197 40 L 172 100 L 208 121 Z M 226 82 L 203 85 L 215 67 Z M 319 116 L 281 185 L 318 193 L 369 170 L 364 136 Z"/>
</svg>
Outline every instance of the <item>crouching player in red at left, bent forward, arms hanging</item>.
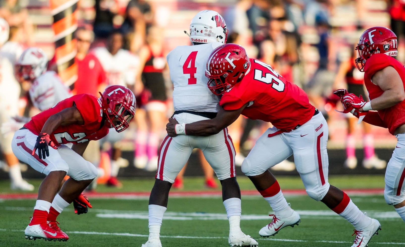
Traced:
<svg viewBox="0 0 405 247">
<path fill-rule="evenodd" d="M 83 152 L 90 140 L 106 136 L 109 128 L 117 132 L 128 128 L 135 105 L 135 96 L 128 88 L 109 86 L 100 98 L 77 94 L 62 100 L 15 132 L 11 144 L 15 156 L 46 175 L 38 189 L 34 216 L 25 230 L 26 239 L 69 239 L 58 227 L 56 217 L 97 176 L 96 167 L 83 159 Z M 64 145 L 67 143 L 73 143 L 71 149 Z M 70 178 L 57 194 L 66 175 Z"/>
</svg>

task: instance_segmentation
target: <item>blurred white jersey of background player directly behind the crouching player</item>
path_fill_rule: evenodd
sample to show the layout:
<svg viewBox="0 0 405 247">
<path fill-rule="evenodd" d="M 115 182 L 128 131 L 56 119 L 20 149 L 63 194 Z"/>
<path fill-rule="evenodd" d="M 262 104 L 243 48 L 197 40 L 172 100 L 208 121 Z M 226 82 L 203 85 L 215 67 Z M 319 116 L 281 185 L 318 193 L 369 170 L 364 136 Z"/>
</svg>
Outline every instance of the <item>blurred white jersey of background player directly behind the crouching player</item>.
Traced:
<svg viewBox="0 0 405 247">
<path fill-rule="evenodd" d="M 30 97 L 34 107 L 45 111 L 59 101 L 72 96 L 70 89 L 60 79 L 55 71 L 46 71 L 36 78 L 30 88 Z"/>
</svg>

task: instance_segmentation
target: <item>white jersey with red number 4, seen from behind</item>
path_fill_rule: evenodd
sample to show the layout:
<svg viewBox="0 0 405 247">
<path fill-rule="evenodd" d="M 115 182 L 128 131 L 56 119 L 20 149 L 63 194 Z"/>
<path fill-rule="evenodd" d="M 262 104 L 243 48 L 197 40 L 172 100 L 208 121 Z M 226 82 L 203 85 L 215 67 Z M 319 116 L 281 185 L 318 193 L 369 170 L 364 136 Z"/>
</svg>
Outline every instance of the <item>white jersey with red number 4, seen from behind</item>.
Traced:
<svg viewBox="0 0 405 247">
<path fill-rule="evenodd" d="M 195 46 L 177 46 L 167 54 L 170 79 L 174 85 L 175 111 L 218 112 L 220 98 L 208 89 L 205 69 L 209 54 L 220 45 L 222 45 L 220 42 L 213 42 Z"/>
</svg>

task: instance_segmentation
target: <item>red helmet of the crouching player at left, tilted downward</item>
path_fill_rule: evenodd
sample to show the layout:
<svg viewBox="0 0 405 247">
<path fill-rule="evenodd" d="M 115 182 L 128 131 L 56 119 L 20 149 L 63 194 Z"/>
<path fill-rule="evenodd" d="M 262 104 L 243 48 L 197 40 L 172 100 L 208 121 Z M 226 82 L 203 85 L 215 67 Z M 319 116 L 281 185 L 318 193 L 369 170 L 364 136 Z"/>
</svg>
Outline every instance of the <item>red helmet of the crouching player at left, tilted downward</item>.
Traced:
<svg viewBox="0 0 405 247">
<path fill-rule="evenodd" d="M 109 121 L 108 128 L 121 132 L 129 127 L 129 122 L 135 115 L 136 100 L 134 93 L 124 86 L 109 86 L 101 93 L 101 107 Z M 118 121 L 114 121 L 116 118 Z"/>
</svg>

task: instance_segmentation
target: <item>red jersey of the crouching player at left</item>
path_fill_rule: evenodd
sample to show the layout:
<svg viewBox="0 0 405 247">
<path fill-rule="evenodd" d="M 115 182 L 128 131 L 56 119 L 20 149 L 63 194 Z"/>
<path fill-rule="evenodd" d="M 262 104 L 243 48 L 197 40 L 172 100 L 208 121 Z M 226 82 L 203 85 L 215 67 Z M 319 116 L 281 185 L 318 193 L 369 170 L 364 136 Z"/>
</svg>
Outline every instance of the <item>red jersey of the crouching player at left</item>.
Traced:
<svg viewBox="0 0 405 247">
<path fill-rule="evenodd" d="M 31 121 L 24 124 L 24 127 L 38 135 L 41 132 L 45 121 L 47 121 L 51 115 L 72 106 L 76 106 L 79 110 L 83 117 L 84 124 L 59 126 L 53 133 L 49 133 L 51 140 L 53 140 L 56 146 L 66 143 L 77 144 L 89 140 L 98 140 L 107 135 L 109 129 L 105 125 L 101 127 L 103 119 L 101 102 L 92 94 L 77 94 L 70 98 L 66 98 L 54 107 L 32 117 Z"/>
</svg>

